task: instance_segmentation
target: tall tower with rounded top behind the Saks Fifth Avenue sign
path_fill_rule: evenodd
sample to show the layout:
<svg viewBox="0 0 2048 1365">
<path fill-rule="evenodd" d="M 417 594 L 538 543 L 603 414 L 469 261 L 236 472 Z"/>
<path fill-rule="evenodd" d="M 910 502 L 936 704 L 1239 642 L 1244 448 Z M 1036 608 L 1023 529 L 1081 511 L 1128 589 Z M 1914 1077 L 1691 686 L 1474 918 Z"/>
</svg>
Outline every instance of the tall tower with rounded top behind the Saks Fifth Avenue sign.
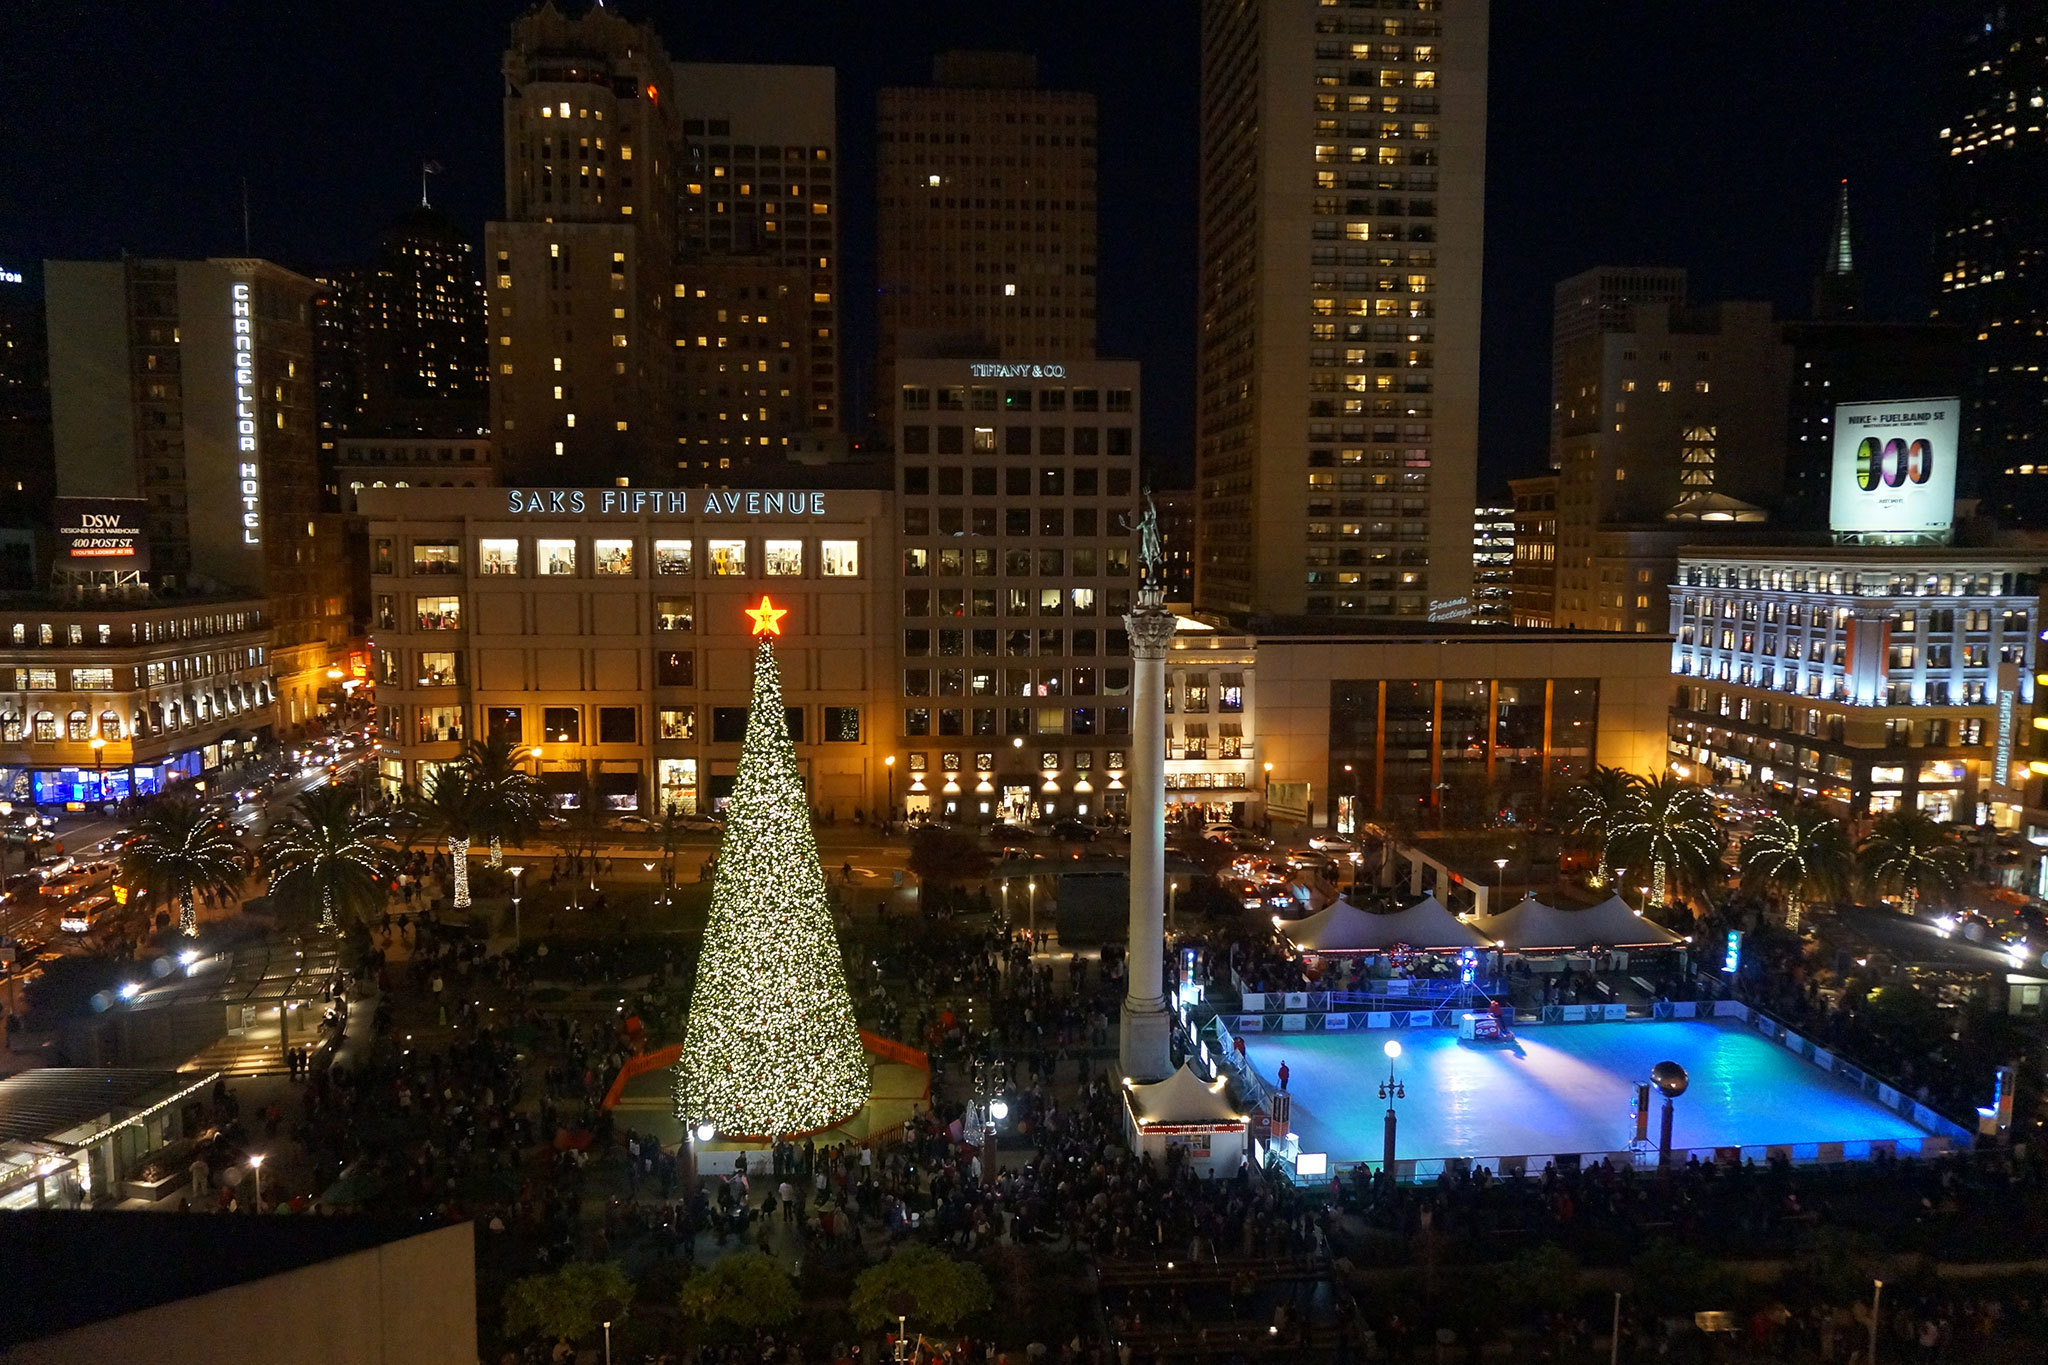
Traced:
<svg viewBox="0 0 2048 1365">
<path fill-rule="evenodd" d="M 670 481 L 676 106 L 653 29 L 543 4 L 504 57 L 506 215 L 483 229 L 506 483 Z"/>
</svg>

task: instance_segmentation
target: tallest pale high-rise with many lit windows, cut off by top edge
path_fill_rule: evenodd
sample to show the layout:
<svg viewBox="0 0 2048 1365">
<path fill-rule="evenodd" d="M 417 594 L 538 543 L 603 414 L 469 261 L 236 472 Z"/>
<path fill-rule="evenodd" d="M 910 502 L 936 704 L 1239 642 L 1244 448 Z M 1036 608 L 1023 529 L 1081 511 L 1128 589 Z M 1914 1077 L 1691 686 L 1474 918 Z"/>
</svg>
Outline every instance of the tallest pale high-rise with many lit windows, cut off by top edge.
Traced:
<svg viewBox="0 0 2048 1365">
<path fill-rule="evenodd" d="M 1202 4 L 1196 604 L 1470 596 L 1487 0 Z"/>
</svg>

